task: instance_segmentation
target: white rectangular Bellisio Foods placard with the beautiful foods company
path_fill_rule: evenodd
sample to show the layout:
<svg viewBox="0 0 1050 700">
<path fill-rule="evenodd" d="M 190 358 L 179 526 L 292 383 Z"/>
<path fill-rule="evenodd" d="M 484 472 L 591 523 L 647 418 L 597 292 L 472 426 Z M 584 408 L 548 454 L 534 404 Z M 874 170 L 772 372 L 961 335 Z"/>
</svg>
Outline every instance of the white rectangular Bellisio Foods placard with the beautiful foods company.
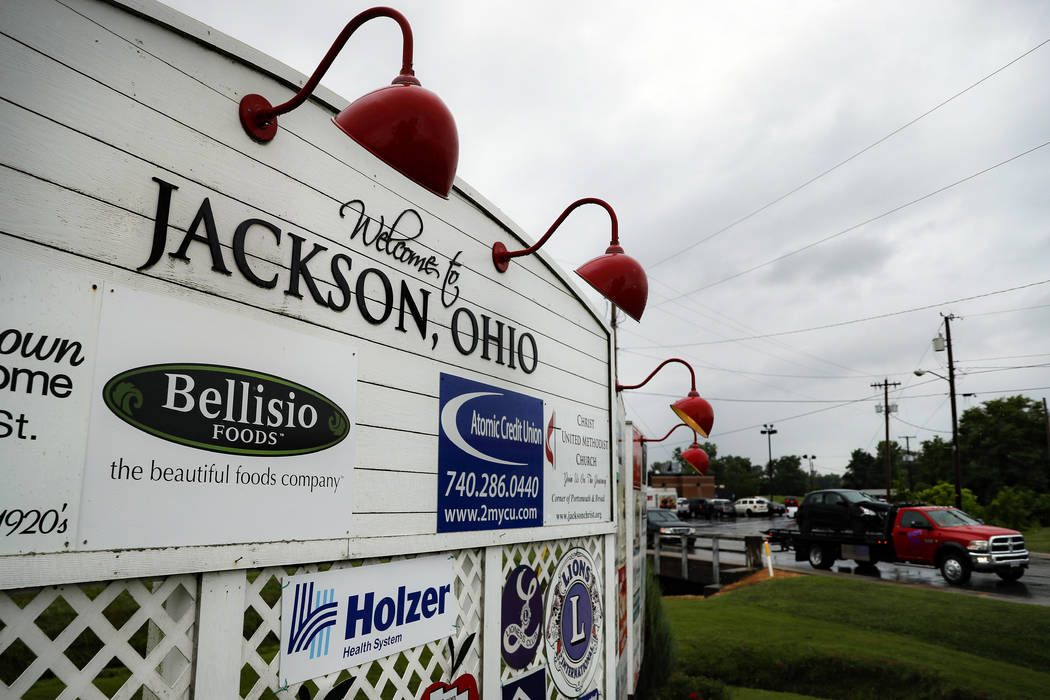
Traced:
<svg viewBox="0 0 1050 700">
<path fill-rule="evenodd" d="M 287 324 L 107 287 L 82 548 L 351 534 L 356 365 Z"/>
</svg>

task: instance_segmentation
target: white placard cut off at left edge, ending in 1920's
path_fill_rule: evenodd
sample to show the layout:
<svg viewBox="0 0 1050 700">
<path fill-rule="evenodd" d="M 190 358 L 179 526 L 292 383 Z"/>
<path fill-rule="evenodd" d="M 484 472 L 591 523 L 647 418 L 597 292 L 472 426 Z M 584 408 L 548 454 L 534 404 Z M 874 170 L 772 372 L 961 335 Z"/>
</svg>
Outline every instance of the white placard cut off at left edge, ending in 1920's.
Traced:
<svg viewBox="0 0 1050 700">
<path fill-rule="evenodd" d="M 77 543 L 98 284 L 0 255 L 0 554 Z"/>
</svg>

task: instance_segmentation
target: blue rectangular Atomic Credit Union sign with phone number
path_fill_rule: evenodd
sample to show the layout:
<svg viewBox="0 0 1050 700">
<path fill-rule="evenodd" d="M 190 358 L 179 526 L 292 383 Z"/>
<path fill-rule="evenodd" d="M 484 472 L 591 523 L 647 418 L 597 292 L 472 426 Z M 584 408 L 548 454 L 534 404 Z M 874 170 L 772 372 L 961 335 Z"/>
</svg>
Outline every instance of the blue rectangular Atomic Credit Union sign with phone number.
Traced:
<svg viewBox="0 0 1050 700">
<path fill-rule="evenodd" d="M 441 375 L 438 532 L 543 525 L 543 401 Z"/>
</svg>

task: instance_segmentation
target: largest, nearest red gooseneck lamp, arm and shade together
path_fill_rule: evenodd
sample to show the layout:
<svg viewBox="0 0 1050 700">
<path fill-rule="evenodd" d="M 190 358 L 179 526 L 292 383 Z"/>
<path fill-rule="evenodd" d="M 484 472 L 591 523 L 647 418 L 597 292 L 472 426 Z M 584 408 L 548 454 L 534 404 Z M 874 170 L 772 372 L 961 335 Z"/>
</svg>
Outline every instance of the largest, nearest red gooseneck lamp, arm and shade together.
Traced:
<svg viewBox="0 0 1050 700">
<path fill-rule="evenodd" d="M 332 121 L 380 161 L 447 198 L 459 164 L 456 122 L 441 99 L 422 87 L 416 78 L 412 68 L 412 27 L 401 13 L 391 7 L 365 9 L 352 19 L 314 75 L 288 102 L 274 107 L 261 94 L 246 94 L 240 100 L 240 124 L 259 143 L 273 140 L 277 134 L 277 116 L 306 102 L 350 36 L 377 17 L 388 17 L 401 27 L 401 72 L 388 86 L 358 98 Z"/>
</svg>

